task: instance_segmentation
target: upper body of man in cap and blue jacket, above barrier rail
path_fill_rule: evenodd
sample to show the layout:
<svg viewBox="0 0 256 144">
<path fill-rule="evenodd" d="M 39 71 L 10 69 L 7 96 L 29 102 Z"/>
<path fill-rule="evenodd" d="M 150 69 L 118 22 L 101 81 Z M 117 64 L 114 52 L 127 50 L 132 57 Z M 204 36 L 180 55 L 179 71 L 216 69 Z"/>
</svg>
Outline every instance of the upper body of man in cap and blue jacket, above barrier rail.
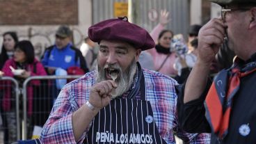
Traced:
<svg viewBox="0 0 256 144">
<path fill-rule="evenodd" d="M 88 72 L 88 67 L 81 51 L 72 45 L 71 29 L 65 25 L 59 26 L 55 36 L 55 45 L 45 50 L 41 60 L 47 73 L 50 75 L 55 74 L 55 70 L 58 67 L 63 70 L 67 70 L 70 67 L 79 67 L 84 73 Z"/>
</svg>

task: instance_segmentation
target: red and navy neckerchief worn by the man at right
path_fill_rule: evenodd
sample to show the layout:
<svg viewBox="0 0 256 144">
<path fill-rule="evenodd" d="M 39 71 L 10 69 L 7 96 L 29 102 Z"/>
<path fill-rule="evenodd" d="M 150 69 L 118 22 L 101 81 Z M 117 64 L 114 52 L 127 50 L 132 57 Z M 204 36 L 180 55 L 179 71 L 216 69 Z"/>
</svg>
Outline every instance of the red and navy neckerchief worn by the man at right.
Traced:
<svg viewBox="0 0 256 144">
<path fill-rule="evenodd" d="M 227 135 L 228 126 L 230 124 L 230 112 L 232 110 L 232 98 L 239 90 L 241 77 L 246 77 L 256 71 L 255 65 L 249 65 L 243 68 L 247 69 L 241 72 L 239 67 L 234 67 L 230 70 L 230 76 L 226 77 L 226 71 L 220 72 L 224 77 L 216 77 L 214 83 L 205 99 L 205 107 L 207 108 L 207 117 L 215 134 L 219 138 L 224 138 Z M 254 64 L 254 62 L 253 62 Z M 226 84 L 228 84 L 226 86 Z M 226 88 L 222 90 L 220 87 Z"/>
</svg>

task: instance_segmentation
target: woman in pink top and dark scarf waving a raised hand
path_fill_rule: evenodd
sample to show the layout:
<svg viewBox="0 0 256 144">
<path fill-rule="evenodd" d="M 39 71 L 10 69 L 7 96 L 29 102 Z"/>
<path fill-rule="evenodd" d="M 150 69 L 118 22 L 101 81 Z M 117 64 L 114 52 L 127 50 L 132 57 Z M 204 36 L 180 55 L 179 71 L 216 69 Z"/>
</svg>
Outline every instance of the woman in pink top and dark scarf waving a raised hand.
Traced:
<svg viewBox="0 0 256 144">
<path fill-rule="evenodd" d="M 166 74 L 170 77 L 175 77 L 177 71 L 173 68 L 175 62 L 175 51 L 171 51 L 170 42 L 173 38 L 173 31 L 163 30 L 164 26 L 170 21 L 168 19 L 169 13 L 166 10 L 161 10 L 161 15 L 159 19 L 159 24 L 152 30 L 150 35 L 153 40 L 157 42 L 154 49 L 148 49 L 147 52 L 150 53 L 154 60 L 154 69 L 157 72 Z"/>
</svg>

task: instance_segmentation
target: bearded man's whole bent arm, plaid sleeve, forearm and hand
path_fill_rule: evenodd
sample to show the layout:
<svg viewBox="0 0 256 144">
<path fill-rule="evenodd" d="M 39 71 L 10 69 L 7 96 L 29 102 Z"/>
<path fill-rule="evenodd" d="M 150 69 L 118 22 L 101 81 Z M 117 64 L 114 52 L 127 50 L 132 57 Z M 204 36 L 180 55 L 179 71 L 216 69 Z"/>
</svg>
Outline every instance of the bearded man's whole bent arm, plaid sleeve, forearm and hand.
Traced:
<svg viewBox="0 0 256 144">
<path fill-rule="evenodd" d="M 90 122 L 100 109 L 109 104 L 109 93 L 116 88 L 114 81 L 102 81 L 90 88 L 88 102 L 94 109 L 86 104 L 77 105 L 76 99 L 67 85 L 58 95 L 49 119 L 45 123 L 40 139 L 43 143 L 82 143 Z M 81 97 L 80 97 L 81 98 Z"/>
</svg>

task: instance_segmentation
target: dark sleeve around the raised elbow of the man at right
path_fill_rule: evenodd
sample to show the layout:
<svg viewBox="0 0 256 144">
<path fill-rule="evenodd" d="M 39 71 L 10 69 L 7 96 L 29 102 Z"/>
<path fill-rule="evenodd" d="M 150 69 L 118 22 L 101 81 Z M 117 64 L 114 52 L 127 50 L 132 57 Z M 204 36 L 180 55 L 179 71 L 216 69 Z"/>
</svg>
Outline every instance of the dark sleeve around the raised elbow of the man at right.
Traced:
<svg viewBox="0 0 256 144">
<path fill-rule="evenodd" d="M 205 91 L 199 99 L 184 104 L 185 84 L 175 86 L 177 91 L 177 115 L 179 125 L 189 133 L 210 133 L 211 127 L 205 118 L 204 101 L 211 83 L 208 81 Z"/>
</svg>

